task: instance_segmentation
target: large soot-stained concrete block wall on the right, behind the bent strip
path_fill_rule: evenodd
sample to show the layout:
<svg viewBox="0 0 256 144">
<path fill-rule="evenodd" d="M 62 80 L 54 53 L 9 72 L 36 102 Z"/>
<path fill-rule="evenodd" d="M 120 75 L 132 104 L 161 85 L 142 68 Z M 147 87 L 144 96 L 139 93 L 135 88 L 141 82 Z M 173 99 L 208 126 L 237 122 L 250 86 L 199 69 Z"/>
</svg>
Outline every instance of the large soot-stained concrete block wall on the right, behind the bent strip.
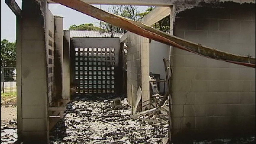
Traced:
<svg viewBox="0 0 256 144">
<path fill-rule="evenodd" d="M 195 7 L 176 15 L 174 35 L 255 57 L 255 4 Z M 173 49 L 173 140 L 255 134 L 255 69 Z"/>
</svg>

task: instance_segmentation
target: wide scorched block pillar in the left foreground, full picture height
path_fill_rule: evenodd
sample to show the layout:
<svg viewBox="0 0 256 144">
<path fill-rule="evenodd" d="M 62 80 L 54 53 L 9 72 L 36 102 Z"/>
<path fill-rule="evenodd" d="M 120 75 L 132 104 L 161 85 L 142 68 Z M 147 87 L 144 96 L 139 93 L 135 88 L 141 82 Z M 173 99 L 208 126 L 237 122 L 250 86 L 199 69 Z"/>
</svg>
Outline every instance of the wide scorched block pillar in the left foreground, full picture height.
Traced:
<svg viewBox="0 0 256 144">
<path fill-rule="evenodd" d="M 20 43 L 17 46 L 17 75 L 19 77 L 17 81 L 17 112 L 18 137 L 21 138 L 20 134 L 22 134 L 23 143 L 48 143 L 47 67 L 44 28 L 46 26 L 46 11 L 48 11 L 47 1 L 22 1 L 21 49 L 19 49 Z M 20 122 L 22 122 L 22 127 Z"/>
</svg>

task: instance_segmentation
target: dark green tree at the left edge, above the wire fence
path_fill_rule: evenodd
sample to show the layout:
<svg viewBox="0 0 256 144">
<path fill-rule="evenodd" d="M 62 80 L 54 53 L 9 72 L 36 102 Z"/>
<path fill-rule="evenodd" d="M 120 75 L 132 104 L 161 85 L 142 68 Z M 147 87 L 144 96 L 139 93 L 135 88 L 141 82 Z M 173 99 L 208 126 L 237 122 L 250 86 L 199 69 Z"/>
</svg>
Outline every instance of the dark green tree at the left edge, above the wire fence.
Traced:
<svg viewBox="0 0 256 144">
<path fill-rule="evenodd" d="M 1 67 L 16 67 L 16 42 L 1 40 Z"/>
</svg>

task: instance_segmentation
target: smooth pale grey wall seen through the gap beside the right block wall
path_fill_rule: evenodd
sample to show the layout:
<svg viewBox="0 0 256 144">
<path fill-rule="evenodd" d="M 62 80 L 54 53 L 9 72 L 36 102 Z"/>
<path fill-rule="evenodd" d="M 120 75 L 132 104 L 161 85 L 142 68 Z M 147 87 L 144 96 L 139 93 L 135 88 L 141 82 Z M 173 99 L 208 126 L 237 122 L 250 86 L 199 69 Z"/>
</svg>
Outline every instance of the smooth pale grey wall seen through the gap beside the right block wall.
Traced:
<svg viewBox="0 0 256 144">
<path fill-rule="evenodd" d="M 169 45 L 151 40 L 149 43 L 149 72 L 160 74 L 161 79 L 166 79 L 163 58 L 169 59 Z M 160 92 L 164 90 L 164 83 L 160 83 Z M 168 91 L 165 83 L 165 91 Z"/>
</svg>

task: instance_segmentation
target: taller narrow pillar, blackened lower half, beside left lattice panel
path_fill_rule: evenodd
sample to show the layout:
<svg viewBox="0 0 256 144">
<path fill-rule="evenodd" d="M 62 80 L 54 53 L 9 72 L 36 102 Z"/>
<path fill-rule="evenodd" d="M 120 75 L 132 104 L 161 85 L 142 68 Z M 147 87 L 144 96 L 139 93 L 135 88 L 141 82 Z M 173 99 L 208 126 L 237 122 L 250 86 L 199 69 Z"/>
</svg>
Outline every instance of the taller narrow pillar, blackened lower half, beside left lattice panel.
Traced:
<svg viewBox="0 0 256 144">
<path fill-rule="evenodd" d="M 55 99 L 63 97 L 63 18 L 54 16 L 55 20 L 55 53 L 54 53 L 54 84 Z"/>
</svg>

